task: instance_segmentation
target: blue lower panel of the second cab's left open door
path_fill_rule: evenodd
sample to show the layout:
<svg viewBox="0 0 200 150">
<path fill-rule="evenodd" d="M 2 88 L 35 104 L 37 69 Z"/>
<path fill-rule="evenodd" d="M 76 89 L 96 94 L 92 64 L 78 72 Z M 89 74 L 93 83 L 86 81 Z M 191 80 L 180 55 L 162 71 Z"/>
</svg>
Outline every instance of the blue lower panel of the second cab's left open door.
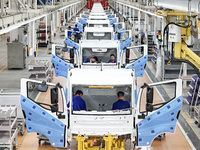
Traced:
<svg viewBox="0 0 200 150">
<path fill-rule="evenodd" d="M 68 77 L 68 69 L 73 69 L 68 63 L 63 61 L 62 59 L 58 58 L 57 56 L 52 54 L 52 62 L 55 65 L 55 75 L 62 76 L 67 78 Z"/>
</svg>

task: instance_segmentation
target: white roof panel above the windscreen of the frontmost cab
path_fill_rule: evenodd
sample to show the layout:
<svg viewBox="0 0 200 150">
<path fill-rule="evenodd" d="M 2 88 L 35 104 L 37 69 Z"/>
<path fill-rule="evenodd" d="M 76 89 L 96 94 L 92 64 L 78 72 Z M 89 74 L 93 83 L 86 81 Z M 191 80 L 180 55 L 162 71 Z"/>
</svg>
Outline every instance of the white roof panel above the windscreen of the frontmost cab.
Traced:
<svg viewBox="0 0 200 150">
<path fill-rule="evenodd" d="M 70 83 L 81 85 L 130 85 L 133 83 L 131 69 L 72 69 Z"/>
</svg>

